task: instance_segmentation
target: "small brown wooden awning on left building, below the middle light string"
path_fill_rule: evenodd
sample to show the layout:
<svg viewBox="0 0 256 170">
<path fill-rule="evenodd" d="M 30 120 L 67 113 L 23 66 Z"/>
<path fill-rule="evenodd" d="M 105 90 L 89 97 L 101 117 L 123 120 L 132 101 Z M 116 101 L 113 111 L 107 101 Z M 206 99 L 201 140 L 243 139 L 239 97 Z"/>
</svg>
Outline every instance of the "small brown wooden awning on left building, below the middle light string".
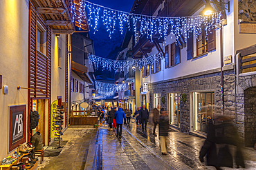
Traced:
<svg viewBox="0 0 256 170">
<path fill-rule="evenodd" d="M 93 81 L 91 81 L 90 76 L 87 74 L 88 68 L 84 65 L 81 65 L 80 63 L 75 63 L 72 61 L 71 65 L 72 71 L 77 74 L 80 78 L 82 78 L 83 81 L 86 81 L 86 83 L 92 84 Z"/>
</svg>

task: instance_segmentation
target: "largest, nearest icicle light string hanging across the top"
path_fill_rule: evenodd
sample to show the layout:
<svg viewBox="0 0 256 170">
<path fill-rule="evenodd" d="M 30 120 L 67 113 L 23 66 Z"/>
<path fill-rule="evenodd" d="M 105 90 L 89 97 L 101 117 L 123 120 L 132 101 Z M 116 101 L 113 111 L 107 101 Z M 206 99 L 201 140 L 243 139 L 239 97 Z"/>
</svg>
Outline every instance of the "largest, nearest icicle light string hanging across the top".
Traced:
<svg viewBox="0 0 256 170">
<path fill-rule="evenodd" d="M 127 23 L 128 29 L 134 30 L 136 41 L 138 40 L 138 36 L 142 36 L 143 34 L 147 34 L 147 38 L 151 40 L 153 39 L 153 34 L 159 34 L 159 39 L 163 37 L 164 41 L 166 41 L 167 30 L 170 28 L 170 33 L 176 39 L 179 39 L 183 35 L 186 42 L 188 31 L 193 31 L 193 36 L 197 37 L 202 29 L 205 29 L 206 34 L 208 34 L 211 33 L 213 28 L 217 29 L 216 25 L 221 23 L 221 12 L 191 17 L 157 17 L 113 10 L 84 0 L 79 6 L 79 12 L 85 12 L 85 10 L 87 10 L 89 25 L 93 28 L 94 33 L 98 31 L 100 19 L 107 28 L 107 32 L 109 32 L 109 38 L 111 38 L 111 34 L 115 32 L 118 26 L 120 34 L 123 34 L 125 23 Z M 79 23 L 84 16 L 84 13 L 80 14 Z"/>
</svg>

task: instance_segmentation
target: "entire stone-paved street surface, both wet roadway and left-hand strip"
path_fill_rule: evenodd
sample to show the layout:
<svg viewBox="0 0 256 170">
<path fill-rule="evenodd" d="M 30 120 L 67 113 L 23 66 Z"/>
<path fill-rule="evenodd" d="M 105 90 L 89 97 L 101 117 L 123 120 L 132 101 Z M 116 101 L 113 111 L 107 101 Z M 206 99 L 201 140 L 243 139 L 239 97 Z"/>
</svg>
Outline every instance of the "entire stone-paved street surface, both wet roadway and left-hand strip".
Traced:
<svg viewBox="0 0 256 170">
<path fill-rule="evenodd" d="M 68 143 L 60 155 L 47 157 L 38 169 L 214 169 L 199 161 L 205 139 L 171 129 L 167 156 L 162 156 L 158 136 L 152 135 L 152 125 L 147 125 L 147 132 L 143 133 L 134 120 L 129 128 L 123 125 L 121 141 L 115 131 L 108 131 L 107 125 L 98 133 L 91 128 L 68 128 L 63 139 Z M 246 169 L 256 169 L 256 152 L 247 148 L 243 151 Z M 89 164 L 91 160 L 93 163 Z"/>
</svg>

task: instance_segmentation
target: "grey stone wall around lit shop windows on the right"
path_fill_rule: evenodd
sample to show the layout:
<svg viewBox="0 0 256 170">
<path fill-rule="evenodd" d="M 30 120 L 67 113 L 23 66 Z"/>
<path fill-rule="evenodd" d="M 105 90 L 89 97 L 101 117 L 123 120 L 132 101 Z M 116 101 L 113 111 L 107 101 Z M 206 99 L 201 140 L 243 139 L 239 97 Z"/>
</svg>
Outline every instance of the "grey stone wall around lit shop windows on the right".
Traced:
<svg viewBox="0 0 256 170">
<path fill-rule="evenodd" d="M 224 72 L 224 101 L 225 114 L 235 116 L 235 74 L 233 70 Z M 150 105 L 152 110 L 154 94 L 161 94 L 165 97 L 165 104 L 161 107 L 167 109 L 167 94 L 181 93 L 187 95 L 187 101 L 181 101 L 181 122 L 182 132 L 190 131 L 190 92 L 214 92 L 215 113 L 221 113 L 221 76 L 220 72 L 194 76 L 177 81 L 165 81 L 149 84 Z M 192 129 L 191 129 L 192 130 Z"/>
</svg>

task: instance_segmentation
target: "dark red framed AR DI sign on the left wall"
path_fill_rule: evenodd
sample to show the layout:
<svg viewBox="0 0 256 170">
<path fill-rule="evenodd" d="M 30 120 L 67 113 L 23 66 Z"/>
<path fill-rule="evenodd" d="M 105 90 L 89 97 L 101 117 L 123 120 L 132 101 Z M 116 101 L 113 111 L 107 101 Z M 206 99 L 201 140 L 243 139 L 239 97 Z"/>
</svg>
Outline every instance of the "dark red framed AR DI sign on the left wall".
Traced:
<svg viewBox="0 0 256 170">
<path fill-rule="evenodd" d="M 9 152 L 26 142 L 26 105 L 9 106 Z"/>
</svg>

